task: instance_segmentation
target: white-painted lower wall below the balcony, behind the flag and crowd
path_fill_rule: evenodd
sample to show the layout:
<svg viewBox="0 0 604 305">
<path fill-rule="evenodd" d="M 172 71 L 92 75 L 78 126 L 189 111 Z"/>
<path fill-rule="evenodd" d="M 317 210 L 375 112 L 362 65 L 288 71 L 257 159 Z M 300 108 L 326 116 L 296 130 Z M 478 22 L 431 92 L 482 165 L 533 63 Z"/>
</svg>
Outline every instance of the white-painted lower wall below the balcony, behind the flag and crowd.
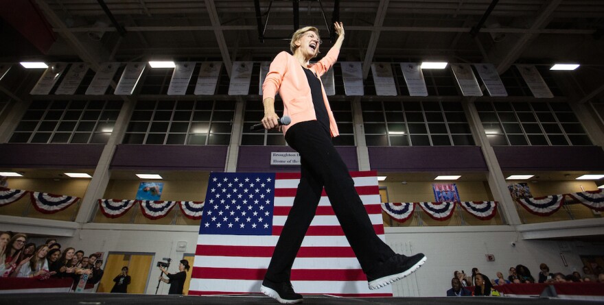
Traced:
<svg viewBox="0 0 604 305">
<path fill-rule="evenodd" d="M 164 257 L 180 260 L 184 253 L 195 253 L 198 236 L 196 226 L 186 225 L 115 225 L 87 223 L 73 237 L 59 238 L 64 247 L 82 249 L 86 254 L 105 252 L 154 253 L 154 262 Z M 176 251 L 176 243 L 186 241 L 184 252 Z M 412 276 L 393 285 L 395 296 L 443 296 L 450 289 L 453 271 L 464 270 L 468 275 L 477 267 L 489 278 L 518 264 L 525 265 L 537 278 L 539 264 L 564 274 L 581 271 L 579 255 L 602 255 L 604 246 L 572 241 L 522 240 L 520 234 L 507 225 L 465 226 L 442 228 L 386 228 L 386 241 L 397 253 L 423 252 L 428 261 Z M 43 243 L 44 239 L 36 241 Z M 515 247 L 511 246 L 515 242 Z M 566 257 L 568 267 L 561 261 Z M 489 262 L 485 254 L 493 254 Z M 172 269 L 172 268 L 171 268 Z M 113 275 L 107 275 L 113 276 Z M 153 294 L 159 270 L 154 268 L 146 293 Z M 166 294 L 168 285 L 160 285 L 159 294 Z"/>
</svg>

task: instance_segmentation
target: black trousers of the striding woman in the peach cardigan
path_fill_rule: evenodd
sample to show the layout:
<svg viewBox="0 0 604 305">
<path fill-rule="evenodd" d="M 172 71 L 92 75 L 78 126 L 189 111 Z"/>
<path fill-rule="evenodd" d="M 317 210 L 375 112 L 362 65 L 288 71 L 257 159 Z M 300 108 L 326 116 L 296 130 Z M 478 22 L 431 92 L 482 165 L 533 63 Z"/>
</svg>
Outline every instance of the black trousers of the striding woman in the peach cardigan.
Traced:
<svg viewBox="0 0 604 305">
<path fill-rule="evenodd" d="M 294 259 L 314 218 L 323 187 L 364 273 L 393 256 L 393 250 L 375 234 L 346 164 L 325 128 L 317 121 L 297 123 L 286 133 L 286 141 L 300 154 L 301 179 L 266 278 L 272 282 L 290 280 Z"/>
</svg>

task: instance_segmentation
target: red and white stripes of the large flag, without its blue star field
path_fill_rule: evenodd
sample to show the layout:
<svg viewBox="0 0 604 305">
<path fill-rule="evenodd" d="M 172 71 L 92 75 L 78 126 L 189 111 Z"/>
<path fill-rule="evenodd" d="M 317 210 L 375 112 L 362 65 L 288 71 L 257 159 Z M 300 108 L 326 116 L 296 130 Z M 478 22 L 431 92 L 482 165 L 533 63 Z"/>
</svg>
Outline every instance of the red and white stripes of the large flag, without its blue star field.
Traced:
<svg viewBox="0 0 604 305">
<path fill-rule="evenodd" d="M 375 171 L 351 172 L 373 228 L 384 240 Z M 272 236 L 200 235 L 189 295 L 258 293 L 273 249 L 294 201 L 299 173 L 277 173 Z M 297 293 L 355 297 L 392 296 L 390 286 L 370 291 L 356 256 L 323 192 L 291 274 Z"/>
</svg>

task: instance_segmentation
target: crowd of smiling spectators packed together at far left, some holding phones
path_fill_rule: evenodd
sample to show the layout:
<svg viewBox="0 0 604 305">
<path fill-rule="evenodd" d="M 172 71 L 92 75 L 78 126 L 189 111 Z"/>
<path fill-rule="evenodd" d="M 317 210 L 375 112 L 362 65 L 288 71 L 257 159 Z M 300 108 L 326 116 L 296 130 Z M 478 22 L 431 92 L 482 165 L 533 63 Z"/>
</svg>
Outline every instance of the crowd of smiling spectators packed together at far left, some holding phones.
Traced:
<svg viewBox="0 0 604 305">
<path fill-rule="evenodd" d="M 97 254 L 84 255 L 73 247 L 62 249 L 56 239 L 36 245 L 27 243 L 27 235 L 0 232 L 0 275 L 13 278 L 73 278 L 73 287 L 86 275 L 88 284 L 103 277 L 103 260 Z"/>
</svg>

